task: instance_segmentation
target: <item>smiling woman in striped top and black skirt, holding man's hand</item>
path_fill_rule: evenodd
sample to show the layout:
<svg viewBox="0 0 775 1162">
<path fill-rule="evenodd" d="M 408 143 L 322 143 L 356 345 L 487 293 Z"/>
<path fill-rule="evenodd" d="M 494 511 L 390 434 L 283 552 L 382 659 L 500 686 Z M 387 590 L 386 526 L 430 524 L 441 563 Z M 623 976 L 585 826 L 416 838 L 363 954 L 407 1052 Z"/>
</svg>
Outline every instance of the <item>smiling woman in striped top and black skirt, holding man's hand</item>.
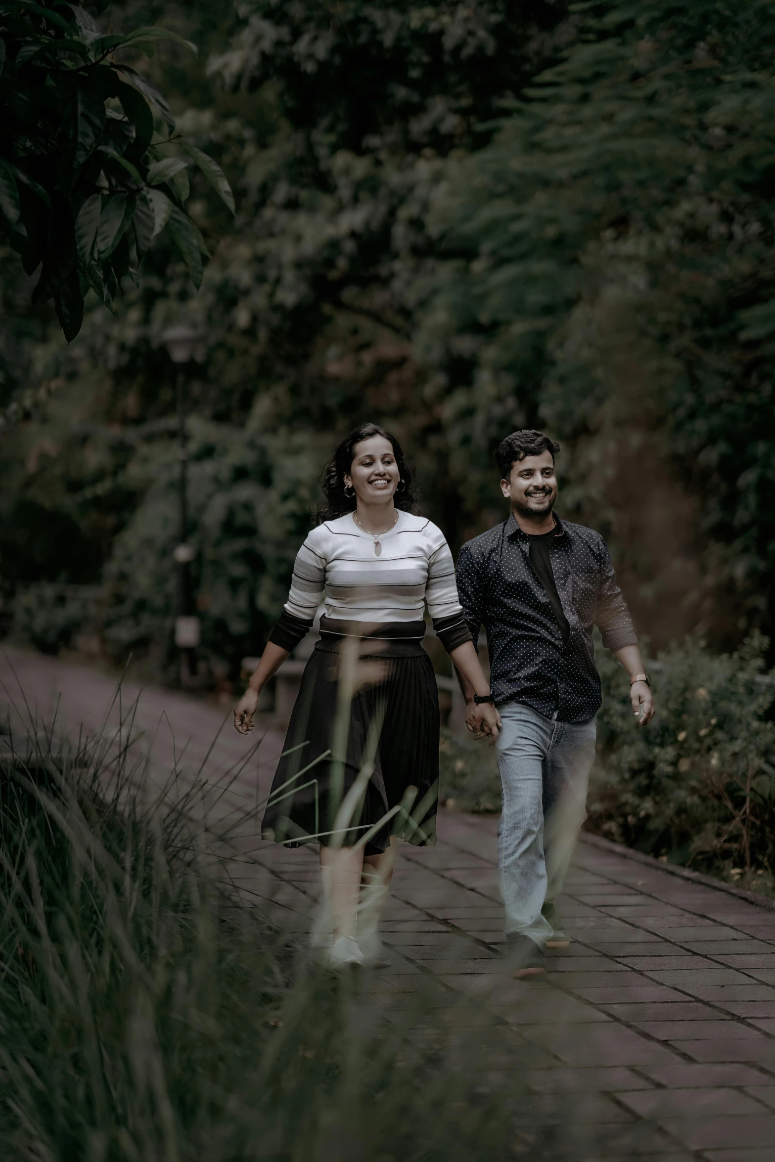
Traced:
<svg viewBox="0 0 775 1162">
<path fill-rule="evenodd" d="M 497 737 L 491 703 L 443 533 L 415 512 L 399 442 L 361 424 L 321 478 L 325 501 L 299 551 L 288 602 L 235 709 L 246 734 L 264 683 L 313 625 L 321 638 L 301 680 L 264 837 L 320 841 L 333 928 L 331 968 L 379 963 L 376 927 L 400 837 L 436 841 L 439 711 L 421 640 L 423 604 L 455 667 L 481 702 L 469 719 Z"/>
</svg>

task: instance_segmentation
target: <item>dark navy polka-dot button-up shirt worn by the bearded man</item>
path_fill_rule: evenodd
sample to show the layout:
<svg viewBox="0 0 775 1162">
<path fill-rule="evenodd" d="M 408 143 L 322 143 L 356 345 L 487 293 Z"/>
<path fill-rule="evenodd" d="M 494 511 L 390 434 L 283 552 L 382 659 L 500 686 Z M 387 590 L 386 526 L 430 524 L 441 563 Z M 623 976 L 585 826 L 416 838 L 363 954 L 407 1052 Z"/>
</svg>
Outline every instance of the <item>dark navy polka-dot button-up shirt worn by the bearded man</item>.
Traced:
<svg viewBox="0 0 775 1162">
<path fill-rule="evenodd" d="M 609 650 L 637 641 L 605 541 L 594 529 L 557 518 L 550 560 L 571 633 L 566 643 L 530 565 L 530 537 L 514 515 L 467 541 L 458 593 L 473 634 L 487 631 L 496 703 L 523 702 L 545 718 L 584 723 L 600 710 L 593 626 Z"/>
</svg>

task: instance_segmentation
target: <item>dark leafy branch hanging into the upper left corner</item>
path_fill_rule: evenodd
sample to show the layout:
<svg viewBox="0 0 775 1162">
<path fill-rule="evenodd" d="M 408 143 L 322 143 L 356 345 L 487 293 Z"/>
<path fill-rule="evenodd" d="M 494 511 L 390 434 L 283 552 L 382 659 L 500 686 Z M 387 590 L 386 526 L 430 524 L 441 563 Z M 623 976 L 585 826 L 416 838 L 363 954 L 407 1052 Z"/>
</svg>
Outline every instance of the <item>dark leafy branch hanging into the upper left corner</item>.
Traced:
<svg viewBox="0 0 775 1162">
<path fill-rule="evenodd" d="M 122 58 L 163 40 L 194 48 L 156 27 L 102 35 L 60 0 L 0 5 L 0 229 L 28 275 L 41 267 L 34 301 L 53 301 L 67 340 L 88 290 L 113 310 L 165 224 L 201 284 L 204 243 L 184 210 L 187 158 L 234 210 L 220 167 L 196 149 L 177 156 L 166 100 Z"/>
</svg>

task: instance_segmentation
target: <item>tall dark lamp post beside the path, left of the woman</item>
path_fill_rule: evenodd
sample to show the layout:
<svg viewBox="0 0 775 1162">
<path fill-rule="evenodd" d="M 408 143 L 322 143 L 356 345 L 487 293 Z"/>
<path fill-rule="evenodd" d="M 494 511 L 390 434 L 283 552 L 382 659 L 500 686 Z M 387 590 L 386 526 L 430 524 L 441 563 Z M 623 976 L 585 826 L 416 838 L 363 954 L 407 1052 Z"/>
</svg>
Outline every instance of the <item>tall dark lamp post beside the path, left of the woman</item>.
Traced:
<svg viewBox="0 0 775 1162">
<path fill-rule="evenodd" d="M 200 339 L 199 331 L 186 324 L 170 327 L 162 335 L 162 342 L 167 349 L 170 359 L 175 365 L 175 389 L 178 403 L 178 457 L 180 461 L 179 475 L 179 514 L 180 533 L 179 541 L 172 554 L 178 566 L 178 602 L 175 616 L 175 645 L 180 651 L 180 684 L 189 686 L 192 675 L 195 674 L 194 650 L 200 641 L 199 618 L 193 611 L 193 598 L 191 590 L 191 562 L 194 559 L 194 550 L 188 544 L 188 496 L 187 496 L 187 468 L 188 447 L 186 438 L 186 373 L 185 365 L 191 361 L 194 347 Z"/>
</svg>

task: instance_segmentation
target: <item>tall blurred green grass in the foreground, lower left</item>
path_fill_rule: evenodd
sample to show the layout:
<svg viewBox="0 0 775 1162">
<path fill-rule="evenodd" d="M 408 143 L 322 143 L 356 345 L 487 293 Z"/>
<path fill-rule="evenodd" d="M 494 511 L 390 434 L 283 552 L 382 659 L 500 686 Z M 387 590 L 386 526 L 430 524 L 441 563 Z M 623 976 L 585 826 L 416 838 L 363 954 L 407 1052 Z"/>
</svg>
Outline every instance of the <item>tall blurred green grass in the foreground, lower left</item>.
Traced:
<svg viewBox="0 0 775 1162">
<path fill-rule="evenodd" d="M 125 733 L 0 751 L 3 1160 L 591 1156 L 496 1018 L 422 976 L 389 1011 L 271 924 L 204 784 L 153 791 Z"/>
</svg>

